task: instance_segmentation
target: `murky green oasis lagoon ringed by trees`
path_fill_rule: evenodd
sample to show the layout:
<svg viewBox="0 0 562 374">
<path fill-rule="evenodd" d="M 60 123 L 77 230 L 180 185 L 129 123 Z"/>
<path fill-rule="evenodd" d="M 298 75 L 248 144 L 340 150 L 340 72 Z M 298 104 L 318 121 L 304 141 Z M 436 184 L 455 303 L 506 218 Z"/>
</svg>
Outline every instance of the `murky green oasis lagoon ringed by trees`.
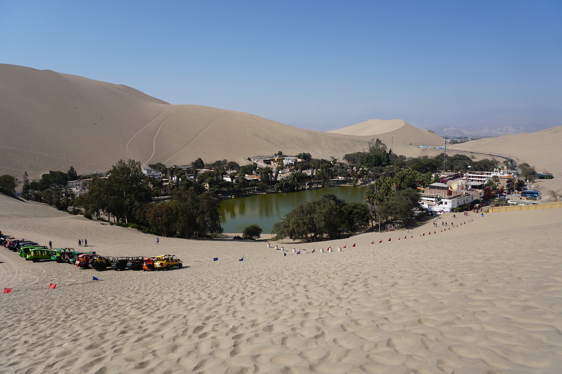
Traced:
<svg viewBox="0 0 562 374">
<path fill-rule="evenodd" d="M 241 233 L 244 227 L 258 224 L 264 234 L 302 201 L 316 200 L 324 193 L 333 193 L 347 202 L 362 202 L 364 187 L 327 186 L 299 192 L 264 193 L 248 197 L 221 200 L 220 214 L 225 233 Z"/>
</svg>

